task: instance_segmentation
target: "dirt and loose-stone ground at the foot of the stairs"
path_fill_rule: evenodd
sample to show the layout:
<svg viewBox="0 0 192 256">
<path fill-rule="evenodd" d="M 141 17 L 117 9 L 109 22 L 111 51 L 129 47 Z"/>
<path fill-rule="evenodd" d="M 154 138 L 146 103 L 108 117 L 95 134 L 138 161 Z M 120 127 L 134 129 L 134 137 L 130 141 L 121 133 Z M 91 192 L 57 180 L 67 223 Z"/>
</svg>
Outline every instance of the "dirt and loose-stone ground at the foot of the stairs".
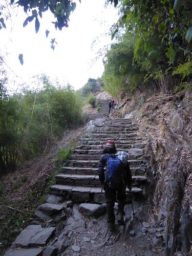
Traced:
<svg viewBox="0 0 192 256">
<path fill-rule="evenodd" d="M 150 234 L 151 229 L 156 228 L 159 231 L 160 229 L 163 230 L 163 227 L 160 223 L 158 225 L 147 223 L 147 225 L 145 222 L 148 228 L 143 228 L 143 219 L 139 217 L 143 211 L 142 206 L 140 210 L 136 210 L 134 220 L 131 205 L 125 206 L 126 226 L 116 224 L 114 232 L 111 232 L 106 226 L 105 215 L 98 218 L 86 218 L 79 214 L 77 207 L 78 205 L 73 206 L 73 217 L 71 217 L 70 222 L 83 220 L 86 222 L 86 228 L 83 231 L 68 233 L 71 245 L 60 255 L 155 256 L 163 254 L 163 247 L 159 248 L 152 243 L 156 235 Z"/>
</svg>

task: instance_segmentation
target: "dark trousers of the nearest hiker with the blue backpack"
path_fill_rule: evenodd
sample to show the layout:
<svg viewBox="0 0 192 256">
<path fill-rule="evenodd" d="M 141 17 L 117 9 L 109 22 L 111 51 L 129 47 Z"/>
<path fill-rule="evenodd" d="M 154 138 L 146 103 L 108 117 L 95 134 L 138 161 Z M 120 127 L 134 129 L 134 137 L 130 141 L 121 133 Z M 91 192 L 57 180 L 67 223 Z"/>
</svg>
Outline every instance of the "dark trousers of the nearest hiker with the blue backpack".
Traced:
<svg viewBox="0 0 192 256">
<path fill-rule="evenodd" d="M 119 189 L 109 187 L 107 184 L 104 187 L 105 199 L 106 199 L 106 216 L 108 223 L 115 223 L 114 205 L 118 202 L 118 212 L 124 215 L 124 205 L 126 199 L 126 187 L 123 185 Z"/>
</svg>

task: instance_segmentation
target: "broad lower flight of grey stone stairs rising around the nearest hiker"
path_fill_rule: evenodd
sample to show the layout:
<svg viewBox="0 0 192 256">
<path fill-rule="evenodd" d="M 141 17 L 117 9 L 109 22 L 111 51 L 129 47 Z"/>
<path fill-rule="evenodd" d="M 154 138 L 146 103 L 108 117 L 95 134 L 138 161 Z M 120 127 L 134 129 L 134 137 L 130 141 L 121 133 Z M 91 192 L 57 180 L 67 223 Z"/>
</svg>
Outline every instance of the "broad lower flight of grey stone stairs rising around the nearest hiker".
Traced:
<svg viewBox="0 0 192 256">
<path fill-rule="evenodd" d="M 144 139 L 136 131 L 137 125 L 130 119 L 105 118 L 102 126 L 96 126 L 93 132 L 79 139 L 71 160 L 62 167 L 62 173 L 56 175 L 56 184 L 51 187 L 51 193 L 74 202 L 105 202 L 98 177 L 98 161 L 106 141 L 115 140 L 118 151 L 129 153 L 133 177 L 131 192 L 135 200 L 141 199 L 146 191 L 146 170 L 150 166 L 148 156 L 143 152 Z M 130 200 L 129 196 L 127 194 L 127 201 Z"/>
</svg>

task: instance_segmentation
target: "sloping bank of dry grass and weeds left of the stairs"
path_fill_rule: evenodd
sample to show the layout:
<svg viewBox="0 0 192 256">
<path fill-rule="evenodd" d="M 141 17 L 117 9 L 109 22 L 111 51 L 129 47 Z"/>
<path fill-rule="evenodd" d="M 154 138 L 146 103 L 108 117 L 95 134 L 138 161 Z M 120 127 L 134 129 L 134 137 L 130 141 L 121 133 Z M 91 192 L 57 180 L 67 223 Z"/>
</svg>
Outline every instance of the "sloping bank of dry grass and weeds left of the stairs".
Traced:
<svg viewBox="0 0 192 256">
<path fill-rule="evenodd" d="M 34 209 L 45 200 L 48 186 L 57 172 L 54 158 L 60 149 L 72 147 L 84 131 L 83 127 L 69 130 L 57 145 L 13 173 L 1 178 L 0 184 L 0 254 L 29 224 Z M 47 190 L 47 191 L 45 191 Z"/>
</svg>

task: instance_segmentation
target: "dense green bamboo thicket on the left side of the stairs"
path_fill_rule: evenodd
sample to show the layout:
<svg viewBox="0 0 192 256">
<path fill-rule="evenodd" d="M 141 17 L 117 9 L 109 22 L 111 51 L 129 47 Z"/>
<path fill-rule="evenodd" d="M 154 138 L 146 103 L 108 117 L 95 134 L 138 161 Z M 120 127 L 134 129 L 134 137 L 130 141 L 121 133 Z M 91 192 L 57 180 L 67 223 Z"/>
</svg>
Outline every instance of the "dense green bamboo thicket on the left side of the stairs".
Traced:
<svg viewBox="0 0 192 256">
<path fill-rule="evenodd" d="M 43 77 L 40 91 L 9 96 L 1 88 L 0 175 L 43 153 L 62 132 L 82 122 L 81 99 L 70 86 L 55 88 Z"/>
</svg>

